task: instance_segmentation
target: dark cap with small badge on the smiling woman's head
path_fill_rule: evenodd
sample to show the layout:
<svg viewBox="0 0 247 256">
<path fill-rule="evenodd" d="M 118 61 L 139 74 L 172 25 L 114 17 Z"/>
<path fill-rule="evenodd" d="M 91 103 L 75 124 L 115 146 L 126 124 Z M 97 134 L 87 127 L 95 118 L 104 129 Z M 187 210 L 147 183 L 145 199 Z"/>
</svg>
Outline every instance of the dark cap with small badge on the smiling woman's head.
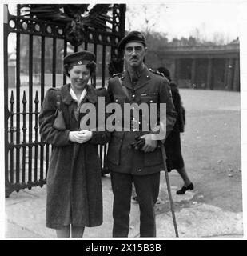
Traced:
<svg viewBox="0 0 247 256">
<path fill-rule="evenodd" d="M 87 50 L 78 51 L 74 54 L 68 54 L 63 58 L 63 64 L 70 66 L 86 65 L 95 60 L 95 55 Z"/>
</svg>

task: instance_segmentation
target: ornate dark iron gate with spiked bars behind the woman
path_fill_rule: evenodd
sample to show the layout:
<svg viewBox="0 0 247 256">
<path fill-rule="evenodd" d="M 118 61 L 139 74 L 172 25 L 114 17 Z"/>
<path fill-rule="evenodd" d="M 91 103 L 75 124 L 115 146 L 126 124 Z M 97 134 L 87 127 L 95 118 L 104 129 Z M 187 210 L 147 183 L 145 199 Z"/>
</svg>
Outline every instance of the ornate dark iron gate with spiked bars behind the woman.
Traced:
<svg viewBox="0 0 247 256">
<path fill-rule="evenodd" d="M 10 14 L 9 6 L 4 6 L 6 197 L 14 190 L 46 184 L 52 148 L 42 142 L 38 134 L 38 114 L 46 89 L 66 83 L 66 76 L 58 74 L 62 69 L 62 57 L 68 50 L 93 51 L 100 68 L 92 82 L 96 86 L 105 86 L 107 62 L 111 56 L 117 55 L 116 47 L 125 34 L 125 5 L 122 4 L 113 5 L 111 31 L 86 27 L 84 42 L 80 46 L 71 46 L 66 41 L 64 26 L 23 17 L 20 10 L 18 5 L 17 13 Z M 16 56 L 11 61 L 8 46 L 13 38 Z M 48 53 L 47 45 L 51 47 Z M 58 52 L 59 47 L 62 50 Z M 99 149 L 102 167 L 105 152 L 104 147 Z"/>
</svg>

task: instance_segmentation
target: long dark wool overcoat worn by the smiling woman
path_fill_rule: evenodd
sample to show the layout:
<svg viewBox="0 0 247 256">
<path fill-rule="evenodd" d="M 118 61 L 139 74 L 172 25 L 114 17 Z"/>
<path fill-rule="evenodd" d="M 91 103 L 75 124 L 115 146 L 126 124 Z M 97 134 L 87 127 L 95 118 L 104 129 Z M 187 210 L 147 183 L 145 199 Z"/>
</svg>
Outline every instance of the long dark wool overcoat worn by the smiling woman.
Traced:
<svg viewBox="0 0 247 256">
<path fill-rule="evenodd" d="M 84 102 L 97 106 L 97 90 L 93 86 L 86 86 L 86 90 Z M 53 128 L 57 110 L 57 92 L 53 88 L 47 91 L 39 115 L 42 140 L 54 146 L 47 174 L 46 226 L 59 229 L 68 222 L 74 226 L 99 226 L 102 183 L 98 144 L 109 142 L 110 134 L 96 130 L 86 143 L 70 142 L 70 131 L 79 128 L 74 114 L 77 102 L 70 95 L 69 84 L 60 91 L 66 130 Z"/>
</svg>

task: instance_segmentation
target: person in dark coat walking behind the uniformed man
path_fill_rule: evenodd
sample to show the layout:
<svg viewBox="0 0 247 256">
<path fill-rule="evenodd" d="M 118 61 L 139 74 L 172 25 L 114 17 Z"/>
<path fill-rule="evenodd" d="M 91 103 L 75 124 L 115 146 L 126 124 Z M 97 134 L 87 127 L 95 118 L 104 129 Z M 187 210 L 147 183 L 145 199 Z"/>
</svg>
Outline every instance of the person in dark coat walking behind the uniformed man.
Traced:
<svg viewBox="0 0 247 256">
<path fill-rule="evenodd" d="M 178 174 L 184 181 L 184 186 L 181 190 L 177 190 L 177 194 L 185 194 L 186 190 L 193 190 L 193 183 L 190 181 L 188 174 L 185 170 L 184 159 L 181 155 L 181 139 L 180 133 L 184 132 L 185 126 L 185 109 L 181 105 L 181 97 L 177 88 L 177 85 L 171 81 L 169 70 L 165 67 L 159 67 L 157 69 L 160 73 L 164 74 L 165 78 L 169 80 L 173 95 L 173 103 L 177 111 L 177 121 L 173 126 L 173 130 L 165 140 L 165 152 L 166 152 L 166 165 L 168 171 L 176 169 Z"/>
</svg>

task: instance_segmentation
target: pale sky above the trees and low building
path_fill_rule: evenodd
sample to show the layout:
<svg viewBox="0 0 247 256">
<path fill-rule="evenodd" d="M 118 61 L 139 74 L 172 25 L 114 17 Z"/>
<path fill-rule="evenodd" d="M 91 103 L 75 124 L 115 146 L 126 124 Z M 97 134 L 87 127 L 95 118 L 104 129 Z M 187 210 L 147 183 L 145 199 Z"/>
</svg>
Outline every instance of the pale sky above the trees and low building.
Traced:
<svg viewBox="0 0 247 256">
<path fill-rule="evenodd" d="M 229 42 L 240 34 L 240 8 L 240 1 L 129 2 L 125 28 L 143 30 L 148 18 L 151 30 L 167 34 L 169 40 L 192 35 Z"/>
</svg>

